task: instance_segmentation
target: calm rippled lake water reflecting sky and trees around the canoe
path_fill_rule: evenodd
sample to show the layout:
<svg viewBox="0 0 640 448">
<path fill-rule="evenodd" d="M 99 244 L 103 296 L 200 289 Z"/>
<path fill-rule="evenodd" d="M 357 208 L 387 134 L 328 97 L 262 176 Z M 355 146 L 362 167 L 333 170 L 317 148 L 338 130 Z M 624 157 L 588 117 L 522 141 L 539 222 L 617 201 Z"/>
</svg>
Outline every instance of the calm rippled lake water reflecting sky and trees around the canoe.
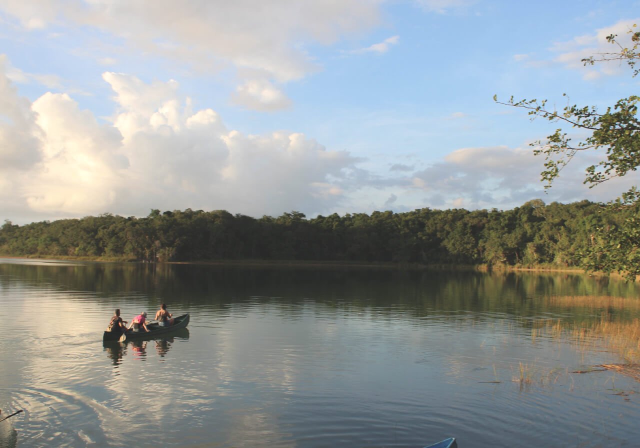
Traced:
<svg viewBox="0 0 640 448">
<path fill-rule="evenodd" d="M 637 447 L 640 383 L 595 367 L 625 360 L 579 331 L 637 319 L 638 292 L 572 273 L 0 259 L 0 408 L 24 410 L 19 447 Z M 188 330 L 102 342 L 114 308 L 162 302 Z"/>
</svg>

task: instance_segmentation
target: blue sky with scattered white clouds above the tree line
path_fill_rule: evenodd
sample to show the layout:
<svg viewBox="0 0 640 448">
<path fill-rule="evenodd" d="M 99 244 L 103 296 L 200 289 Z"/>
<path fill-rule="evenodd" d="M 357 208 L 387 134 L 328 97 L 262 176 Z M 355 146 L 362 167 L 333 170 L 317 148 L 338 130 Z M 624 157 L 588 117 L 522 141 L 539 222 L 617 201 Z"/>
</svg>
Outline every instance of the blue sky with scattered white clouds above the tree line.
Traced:
<svg viewBox="0 0 640 448">
<path fill-rule="evenodd" d="M 580 62 L 634 23 L 637 0 L 0 0 L 0 220 L 612 200 L 638 176 L 584 186 L 603 154 L 545 190 L 530 143 L 558 124 L 493 95 L 639 93 Z"/>
</svg>

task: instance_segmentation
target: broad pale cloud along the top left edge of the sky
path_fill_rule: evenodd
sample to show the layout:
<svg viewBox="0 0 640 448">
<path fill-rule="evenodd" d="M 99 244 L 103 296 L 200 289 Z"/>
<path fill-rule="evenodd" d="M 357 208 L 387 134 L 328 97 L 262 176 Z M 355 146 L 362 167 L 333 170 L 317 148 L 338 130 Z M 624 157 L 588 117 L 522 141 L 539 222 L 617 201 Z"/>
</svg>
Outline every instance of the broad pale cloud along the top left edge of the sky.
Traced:
<svg viewBox="0 0 640 448">
<path fill-rule="evenodd" d="M 255 86 L 243 72 L 261 72 L 271 83 L 302 79 L 319 69 L 308 45 L 330 45 L 344 35 L 371 29 L 379 22 L 381 2 L 0 0 L 0 12 L 26 30 L 66 26 L 104 33 L 115 38 L 112 51 L 160 56 L 196 72 L 231 68 L 239 77 L 238 102 L 276 109 L 288 104 L 284 94 L 273 86 Z M 379 44 L 380 49 L 392 43 Z M 113 65 L 113 56 L 98 60 Z"/>
</svg>

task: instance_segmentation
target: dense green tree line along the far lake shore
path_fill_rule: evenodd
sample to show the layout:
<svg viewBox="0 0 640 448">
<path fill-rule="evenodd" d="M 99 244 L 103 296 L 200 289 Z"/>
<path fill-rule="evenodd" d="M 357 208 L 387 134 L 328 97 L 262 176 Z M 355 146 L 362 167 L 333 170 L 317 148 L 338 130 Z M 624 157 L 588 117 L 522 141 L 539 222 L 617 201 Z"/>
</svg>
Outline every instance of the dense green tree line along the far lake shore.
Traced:
<svg viewBox="0 0 640 448">
<path fill-rule="evenodd" d="M 0 253 L 144 261 L 321 260 L 584 266 L 630 211 L 532 200 L 512 210 L 417 209 L 256 219 L 227 211 L 152 210 L 0 228 Z M 594 255 L 596 254 L 596 255 Z M 603 255 L 604 256 L 604 255 Z"/>
</svg>

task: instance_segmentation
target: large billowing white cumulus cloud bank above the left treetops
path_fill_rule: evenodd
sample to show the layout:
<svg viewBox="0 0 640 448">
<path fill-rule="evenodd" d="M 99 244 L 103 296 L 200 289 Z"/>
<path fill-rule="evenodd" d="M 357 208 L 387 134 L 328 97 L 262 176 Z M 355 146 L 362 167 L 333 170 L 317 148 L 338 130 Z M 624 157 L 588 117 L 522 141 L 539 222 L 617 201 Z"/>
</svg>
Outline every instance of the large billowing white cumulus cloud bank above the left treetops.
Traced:
<svg viewBox="0 0 640 448">
<path fill-rule="evenodd" d="M 84 216 L 227 209 L 252 216 L 331 209 L 357 159 L 298 132 L 243 134 L 212 109 L 193 110 L 176 81 L 103 75 L 111 123 L 65 93 L 30 103 L 0 76 L 0 201 L 11 214 Z"/>
</svg>

